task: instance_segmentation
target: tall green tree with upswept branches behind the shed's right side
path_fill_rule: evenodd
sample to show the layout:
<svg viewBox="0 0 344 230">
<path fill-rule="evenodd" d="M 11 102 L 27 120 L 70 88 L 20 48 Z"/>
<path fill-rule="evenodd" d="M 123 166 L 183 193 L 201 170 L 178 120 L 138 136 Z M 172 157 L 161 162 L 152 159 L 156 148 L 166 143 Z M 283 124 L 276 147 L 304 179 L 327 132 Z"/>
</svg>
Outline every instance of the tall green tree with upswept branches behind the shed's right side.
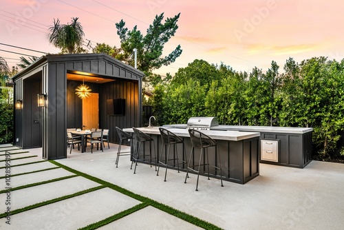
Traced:
<svg viewBox="0 0 344 230">
<path fill-rule="evenodd" d="M 133 50 L 137 49 L 138 70 L 147 76 L 151 75 L 152 70 L 156 70 L 162 65 L 170 65 L 182 54 L 180 45 L 163 57 L 162 51 L 164 45 L 177 31 L 179 17 L 180 14 L 177 14 L 175 17 L 167 18 L 163 23 L 164 13 L 156 15 L 145 36 L 138 30 L 137 25 L 133 30 L 128 30 L 125 27 L 125 21 L 121 20 L 116 23 L 117 34 L 120 36 L 120 48 L 122 48 L 122 52 L 116 57 L 133 66 L 135 61 Z"/>
</svg>

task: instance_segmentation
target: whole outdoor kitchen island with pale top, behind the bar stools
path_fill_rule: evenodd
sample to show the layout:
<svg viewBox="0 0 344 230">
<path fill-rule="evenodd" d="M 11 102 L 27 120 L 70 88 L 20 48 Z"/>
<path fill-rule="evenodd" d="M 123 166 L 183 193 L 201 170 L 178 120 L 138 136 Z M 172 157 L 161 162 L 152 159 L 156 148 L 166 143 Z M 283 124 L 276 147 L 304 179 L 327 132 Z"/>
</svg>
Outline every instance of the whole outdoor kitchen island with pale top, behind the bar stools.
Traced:
<svg viewBox="0 0 344 230">
<path fill-rule="evenodd" d="M 159 127 L 140 127 L 140 131 L 149 134 L 154 139 L 156 156 L 160 156 L 162 147 L 162 140 L 160 137 Z M 189 160 L 191 153 L 191 139 L 188 129 L 180 129 L 175 127 L 164 126 L 165 129 L 173 132 L 175 135 L 180 136 L 184 140 L 184 147 L 186 158 L 183 158 L 183 147 L 178 145 L 178 158 L 181 160 Z M 125 132 L 133 133 L 133 129 L 123 129 Z M 239 131 L 222 131 L 222 130 L 201 130 L 204 134 L 215 139 L 219 147 L 220 160 L 215 158 L 215 147 L 208 149 L 209 162 L 212 165 L 222 167 L 223 180 L 245 184 L 256 176 L 259 176 L 259 132 L 239 132 Z M 143 145 L 143 143 L 142 143 Z M 140 152 L 144 151 L 147 154 L 149 151 L 154 151 L 151 143 L 144 143 L 140 147 Z M 164 149 L 164 156 L 166 156 L 167 149 Z M 171 151 L 177 154 L 176 149 L 171 147 Z M 133 143 L 131 143 L 131 152 L 133 152 Z M 143 154 L 143 153 L 142 153 Z M 153 154 L 153 152 L 152 152 Z M 195 150 L 195 158 L 191 160 L 190 167 L 198 165 L 199 151 Z M 181 162 L 180 160 L 180 162 Z M 141 160 L 143 163 L 144 159 Z M 171 163 L 170 163 L 171 165 Z M 177 167 L 177 165 L 175 165 Z M 180 165 L 183 171 L 186 171 L 186 164 Z M 201 169 L 202 174 L 202 169 Z M 219 178 L 219 171 L 211 175 L 213 178 Z"/>
</svg>

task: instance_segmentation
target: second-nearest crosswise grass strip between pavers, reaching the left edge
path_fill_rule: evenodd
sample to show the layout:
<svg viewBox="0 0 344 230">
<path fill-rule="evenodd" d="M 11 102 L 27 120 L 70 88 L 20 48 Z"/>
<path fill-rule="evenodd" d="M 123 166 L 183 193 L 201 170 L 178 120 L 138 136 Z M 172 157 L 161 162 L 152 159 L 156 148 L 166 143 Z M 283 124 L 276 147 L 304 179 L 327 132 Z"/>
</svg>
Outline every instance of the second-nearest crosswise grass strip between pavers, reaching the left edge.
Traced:
<svg viewBox="0 0 344 230">
<path fill-rule="evenodd" d="M 50 205 L 50 204 L 53 204 L 53 203 L 61 201 L 61 200 L 67 200 L 69 198 L 74 198 L 75 196 L 80 196 L 80 195 L 87 194 L 89 192 L 96 191 L 98 189 L 104 189 L 104 188 L 105 188 L 104 185 L 100 185 L 98 187 L 93 187 L 91 189 L 86 189 L 86 190 L 83 190 L 83 191 L 78 191 L 75 194 L 70 194 L 70 195 L 67 195 L 67 196 L 61 196 L 59 198 L 54 198 L 52 200 L 46 200 L 46 201 L 43 201 L 43 202 L 36 203 L 34 205 L 29 205 L 29 206 L 23 207 L 21 209 L 15 209 L 15 210 L 11 211 L 11 216 L 13 216 L 14 214 L 21 213 L 23 211 L 29 211 L 31 209 L 36 209 L 36 208 L 39 208 L 39 207 L 42 207 L 42 206 L 45 206 L 45 205 Z M 6 216 L 7 216 L 6 212 L 0 214 L 0 218 L 4 218 Z"/>
</svg>

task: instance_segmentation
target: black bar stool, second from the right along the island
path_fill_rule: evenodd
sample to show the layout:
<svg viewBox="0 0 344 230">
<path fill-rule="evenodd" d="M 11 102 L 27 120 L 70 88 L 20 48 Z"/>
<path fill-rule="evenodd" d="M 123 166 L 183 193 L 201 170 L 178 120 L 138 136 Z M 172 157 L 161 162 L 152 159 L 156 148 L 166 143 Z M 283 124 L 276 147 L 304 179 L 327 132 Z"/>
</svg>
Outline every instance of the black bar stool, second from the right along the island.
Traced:
<svg viewBox="0 0 344 230">
<path fill-rule="evenodd" d="M 177 164 L 173 163 L 173 165 L 177 165 L 178 168 L 178 172 L 179 172 L 179 160 L 178 160 L 178 147 L 176 147 L 176 155 L 173 158 L 169 158 L 169 154 L 170 154 L 170 149 L 171 149 L 171 145 L 175 146 L 176 144 L 182 144 L 183 145 L 183 159 L 182 163 L 186 163 L 186 154 L 185 154 L 185 148 L 184 148 L 184 141 L 182 138 L 180 138 L 179 136 L 173 134 L 173 132 L 164 129 L 162 127 L 159 128 L 160 134 L 161 134 L 161 140 L 162 140 L 162 147 L 161 147 L 161 152 L 160 152 L 160 158 L 159 158 L 159 163 L 158 163 L 158 172 L 156 173 L 156 176 L 159 176 L 159 169 L 160 169 L 160 165 L 165 165 L 166 166 L 166 170 L 165 170 L 165 178 L 164 181 L 166 181 L 166 174 L 167 174 L 167 167 L 169 165 L 169 161 L 170 160 L 177 160 Z M 162 162 L 161 158 L 162 158 L 162 152 L 164 150 L 164 147 L 166 147 L 168 145 L 168 149 L 167 149 L 167 155 L 166 158 L 164 160 L 164 162 Z M 181 164 L 182 164 L 181 163 Z"/>
</svg>

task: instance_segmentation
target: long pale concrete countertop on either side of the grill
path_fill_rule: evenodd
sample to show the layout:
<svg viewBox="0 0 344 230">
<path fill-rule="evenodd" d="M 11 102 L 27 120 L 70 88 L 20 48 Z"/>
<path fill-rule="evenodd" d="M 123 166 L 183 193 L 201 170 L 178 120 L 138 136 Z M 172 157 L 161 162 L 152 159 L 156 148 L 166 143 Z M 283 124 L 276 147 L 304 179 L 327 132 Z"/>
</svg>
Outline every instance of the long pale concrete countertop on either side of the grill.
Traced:
<svg viewBox="0 0 344 230">
<path fill-rule="evenodd" d="M 164 127 L 186 128 L 186 124 L 164 125 Z M 244 132 L 272 132 L 281 134 L 305 134 L 313 132 L 313 128 L 303 127 L 276 127 L 276 126 L 249 126 L 249 125 L 219 125 L 211 130 L 230 130 Z"/>
</svg>

